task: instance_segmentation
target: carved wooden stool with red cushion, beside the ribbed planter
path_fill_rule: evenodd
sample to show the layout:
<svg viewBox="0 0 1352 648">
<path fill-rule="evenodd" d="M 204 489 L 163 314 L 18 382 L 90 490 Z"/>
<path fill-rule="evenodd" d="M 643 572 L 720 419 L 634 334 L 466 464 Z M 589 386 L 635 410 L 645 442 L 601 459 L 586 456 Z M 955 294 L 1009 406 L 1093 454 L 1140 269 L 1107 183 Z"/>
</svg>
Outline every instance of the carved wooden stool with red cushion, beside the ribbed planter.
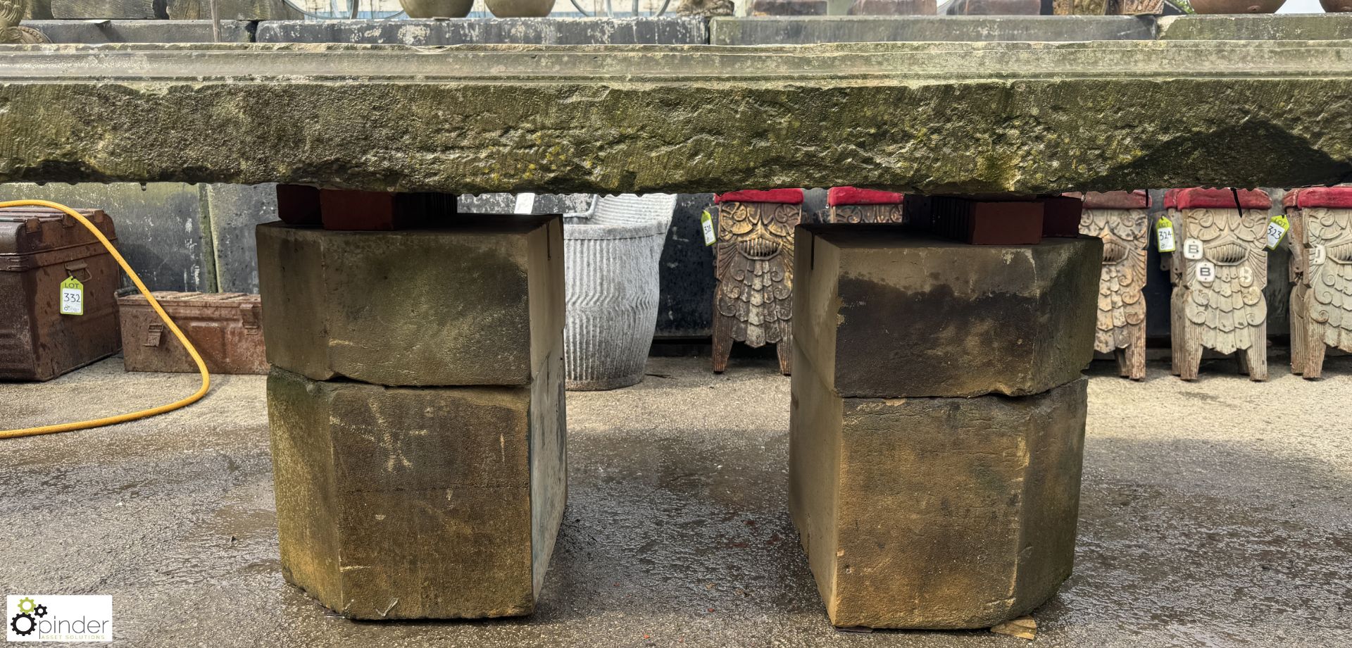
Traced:
<svg viewBox="0 0 1352 648">
<path fill-rule="evenodd" d="M 794 227 L 803 218 L 803 191 L 734 191 L 714 202 L 714 372 L 727 368 L 735 341 L 773 344 L 787 376 L 794 357 Z"/>
</svg>

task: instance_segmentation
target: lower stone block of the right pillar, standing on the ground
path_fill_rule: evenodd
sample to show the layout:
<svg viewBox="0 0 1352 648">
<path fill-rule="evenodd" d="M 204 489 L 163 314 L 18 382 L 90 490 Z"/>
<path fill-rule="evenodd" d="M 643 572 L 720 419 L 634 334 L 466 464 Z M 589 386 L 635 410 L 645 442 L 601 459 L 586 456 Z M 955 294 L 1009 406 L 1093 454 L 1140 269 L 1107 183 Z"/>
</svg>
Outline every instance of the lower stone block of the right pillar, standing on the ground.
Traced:
<svg viewBox="0 0 1352 648">
<path fill-rule="evenodd" d="M 990 628 L 1051 598 L 1075 553 L 1086 386 L 840 398 L 795 358 L 790 507 L 831 624 Z"/>
</svg>

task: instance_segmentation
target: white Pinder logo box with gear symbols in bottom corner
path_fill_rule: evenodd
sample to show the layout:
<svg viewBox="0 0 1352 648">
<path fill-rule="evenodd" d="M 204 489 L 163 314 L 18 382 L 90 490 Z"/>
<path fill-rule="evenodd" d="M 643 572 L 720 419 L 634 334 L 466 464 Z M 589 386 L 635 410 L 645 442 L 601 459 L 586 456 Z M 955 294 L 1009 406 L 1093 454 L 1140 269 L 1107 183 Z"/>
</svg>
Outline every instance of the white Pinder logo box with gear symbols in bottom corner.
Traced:
<svg viewBox="0 0 1352 648">
<path fill-rule="evenodd" d="M 112 597 L 7 595 L 8 641 L 112 641 Z"/>
</svg>

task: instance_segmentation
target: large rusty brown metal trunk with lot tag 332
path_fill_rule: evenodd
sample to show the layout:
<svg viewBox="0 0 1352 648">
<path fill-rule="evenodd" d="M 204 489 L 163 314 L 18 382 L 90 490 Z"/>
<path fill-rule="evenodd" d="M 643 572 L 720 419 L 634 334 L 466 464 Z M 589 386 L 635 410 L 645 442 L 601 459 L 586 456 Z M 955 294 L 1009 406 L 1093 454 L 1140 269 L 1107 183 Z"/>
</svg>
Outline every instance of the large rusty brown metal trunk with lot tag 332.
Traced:
<svg viewBox="0 0 1352 648">
<path fill-rule="evenodd" d="M 110 241 L 112 219 L 78 210 Z M 84 284 L 82 314 L 64 315 L 62 281 Z M 43 207 L 0 210 L 0 380 L 50 380 L 118 352 L 112 254 L 76 219 Z"/>
</svg>

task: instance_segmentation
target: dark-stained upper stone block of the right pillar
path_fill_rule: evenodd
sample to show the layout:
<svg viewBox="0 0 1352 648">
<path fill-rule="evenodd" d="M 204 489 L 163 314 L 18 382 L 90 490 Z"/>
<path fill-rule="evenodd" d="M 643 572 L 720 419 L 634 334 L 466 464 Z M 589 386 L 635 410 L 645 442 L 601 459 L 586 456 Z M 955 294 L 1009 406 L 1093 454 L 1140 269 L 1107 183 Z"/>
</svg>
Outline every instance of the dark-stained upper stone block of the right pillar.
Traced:
<svg viewBox="0 0 1352 648">
<path fill-rule="evenodd" d="M 796 230 L 795 371 L 840 396 L 1040 394 L 1094 358 L 1103 242 L 965 245 L 895 226 Z"/>
</svg>

